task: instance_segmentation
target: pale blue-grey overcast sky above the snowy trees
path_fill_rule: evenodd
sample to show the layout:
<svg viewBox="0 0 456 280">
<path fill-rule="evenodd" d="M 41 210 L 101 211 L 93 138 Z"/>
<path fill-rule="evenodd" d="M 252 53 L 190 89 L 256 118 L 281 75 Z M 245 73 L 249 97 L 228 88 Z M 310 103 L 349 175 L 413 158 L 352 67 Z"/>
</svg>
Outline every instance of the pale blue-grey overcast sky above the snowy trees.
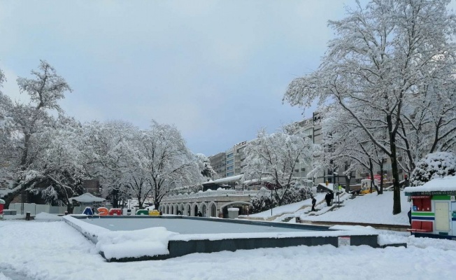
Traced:
<svg viewBox="0 0 456 280">
<path fill-rule="evenodd" d="M 362 1 L 365 3 L 366 1 Z M 452 7 L 455 7 L 455 1 Z M 3 93 L 39 59 L 73 88 L 67 115 L 174 124 L 194 153 L 213 155 L 311 116 L 282 104 L 314 71 L 355 0 L 0 1 Z M 23 95 L 23 94 L 22 94 Z"/>
</svg>

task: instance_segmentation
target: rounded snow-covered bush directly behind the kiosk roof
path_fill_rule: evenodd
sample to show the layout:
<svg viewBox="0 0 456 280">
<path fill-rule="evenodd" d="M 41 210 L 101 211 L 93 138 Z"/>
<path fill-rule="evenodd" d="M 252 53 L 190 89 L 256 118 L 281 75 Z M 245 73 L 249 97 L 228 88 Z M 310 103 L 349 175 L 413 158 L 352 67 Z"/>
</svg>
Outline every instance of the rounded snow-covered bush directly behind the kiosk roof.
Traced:
<svg viewBox="0 0 456 280">
<path fill-rule="evenodd" d="M 437 152 L 426 155 L 417 162 L 411 174 L 411 186 L 422 186 L 427 181 L 445 176 L 455 176 L 456 154 Z"/>
</svg>

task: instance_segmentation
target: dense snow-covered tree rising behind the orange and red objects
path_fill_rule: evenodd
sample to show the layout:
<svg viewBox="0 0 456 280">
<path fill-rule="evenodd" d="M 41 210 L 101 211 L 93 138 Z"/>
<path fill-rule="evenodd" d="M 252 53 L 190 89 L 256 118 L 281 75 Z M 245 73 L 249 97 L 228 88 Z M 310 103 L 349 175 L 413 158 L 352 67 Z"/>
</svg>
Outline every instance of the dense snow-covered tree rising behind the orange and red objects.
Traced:
<svg viewBox="0 0 456 280">
<path fill-rule="evenodd" d="M 87 169 L 92 178 L 99 180 L 103 196 L 115 207 L 129 197 L 136 198 L 143 207 L 150 187 L 141 169 L 138 128 L 121 120 L 84 126 Z"/>
</svg>

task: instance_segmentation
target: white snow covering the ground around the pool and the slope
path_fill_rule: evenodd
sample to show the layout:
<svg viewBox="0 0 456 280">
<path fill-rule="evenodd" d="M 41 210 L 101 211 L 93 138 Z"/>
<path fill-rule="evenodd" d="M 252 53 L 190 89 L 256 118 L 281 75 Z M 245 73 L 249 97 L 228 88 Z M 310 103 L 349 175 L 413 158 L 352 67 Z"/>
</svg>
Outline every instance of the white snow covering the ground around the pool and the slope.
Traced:
<svg viewBox="0 0 456 280">
<path fill-rule="evenodd" d="M 391 195 L 365 195 L 355 200 L 347 200 L 344 202 L 345 206 L 336 211 L 326 211 L 325 214 L 317 216 L 298 215 L 321 221 L 334 218 L 338 221 L 343 221 L 344 218 L 346 221 L 355 221 L 347 215 L 356 214 L 359 223 L 404 223 L 406 211 L 399 216 L 390 217 L 392 197 L 391 202 L 387 202 L 388 196 Z M 409 205 L 406 201 L 403 201 L 403 204 Z M 369 211 L 375 211 L 376 214 L 364 215 Z M 456 272 L 456 241 L 415 238 L 406 232 L 384 230 L 378 231 L 380 239 L 406 242 L 408 248 L 296 246 L 210 254 L 194 253 L 169 260 L 106 262 L 99 255 L 96 246 L 80 232 L 63 221 L 50 220 L 52 217 L 46 215 L 38 216 L 37 221 L 0 222 L 0 280 L 415 280 L 454 279 Z"/>
</svg>

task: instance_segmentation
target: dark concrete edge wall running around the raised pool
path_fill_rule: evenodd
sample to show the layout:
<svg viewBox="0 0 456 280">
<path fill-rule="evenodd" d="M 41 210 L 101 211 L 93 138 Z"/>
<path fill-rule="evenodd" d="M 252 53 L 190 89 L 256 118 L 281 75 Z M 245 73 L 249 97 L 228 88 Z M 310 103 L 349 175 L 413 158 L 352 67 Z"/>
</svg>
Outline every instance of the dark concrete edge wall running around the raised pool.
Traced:
<svg viewBox="0 0 456 280">
<path fill-rule="evenodd" d="M 90 217 L 90 216 L 89 216 Z M 87 216 L 73 216 L 79 220 L 87 218 Z M 97 218 L 184 218 L 184 219 L 197 219 L 199 221 L 213 221 L 219 223 L 241 223 L 249 225 L 267 225 L 277 228 L 296 228 L 300 230 L 316 230 L 317 232 L 330 231 L 336 232 L 336 230 L 329 230 L 329 226 L 322 225 L 305 225 L 305 224 L 288 224 L 288 223 L 273 223 L 273 222 L 262 222 L 262 221 L 248 221 L 248 220 L 232 220 L 232 219 L 220 219 L 220 218 L 201 218 L 201 217 L 187 217 L 187 216 L 97 216 Z M 87 234 L 83 229 L 64 219 L 66 223 L 76 228 L 81 232 L 87 239 L 90 239 L 94 244 L 97 244 L 98 238 L 96 235 Z M 192 239 L 192 240 L 169 240 L 167 255 L 144 255 L 142 257 L 135 258 L 106 258 L 104 252 L 100 254 L 108 262 L 131 262 L 140 260 L 166 260 L 169 258 L 176 258 L 191 253 L 215 253 L 220 251 L 236 251 L 236 250 L 250 250 L 255 248 L 285 248 L 289 246 L 319 246 L 330 244 L 335 247 L 341 246 L 341 238 L 343 241 L 348 242 L 350 246 L 367 245 L 373 248 L 385 248 L 386 246 L 405 246 L 406 244 L 387 244 L 383 246 L 378 245 L 378 235 L 366 234 L 366 235 L 336 235 L 336 236 L 306 236 L 306 237 L 241 237 L 241 238 L 224 238 L 217 240 L 210 239 Z M 344 243 L 345 243 L 344 242 Z"/>
</svg>

